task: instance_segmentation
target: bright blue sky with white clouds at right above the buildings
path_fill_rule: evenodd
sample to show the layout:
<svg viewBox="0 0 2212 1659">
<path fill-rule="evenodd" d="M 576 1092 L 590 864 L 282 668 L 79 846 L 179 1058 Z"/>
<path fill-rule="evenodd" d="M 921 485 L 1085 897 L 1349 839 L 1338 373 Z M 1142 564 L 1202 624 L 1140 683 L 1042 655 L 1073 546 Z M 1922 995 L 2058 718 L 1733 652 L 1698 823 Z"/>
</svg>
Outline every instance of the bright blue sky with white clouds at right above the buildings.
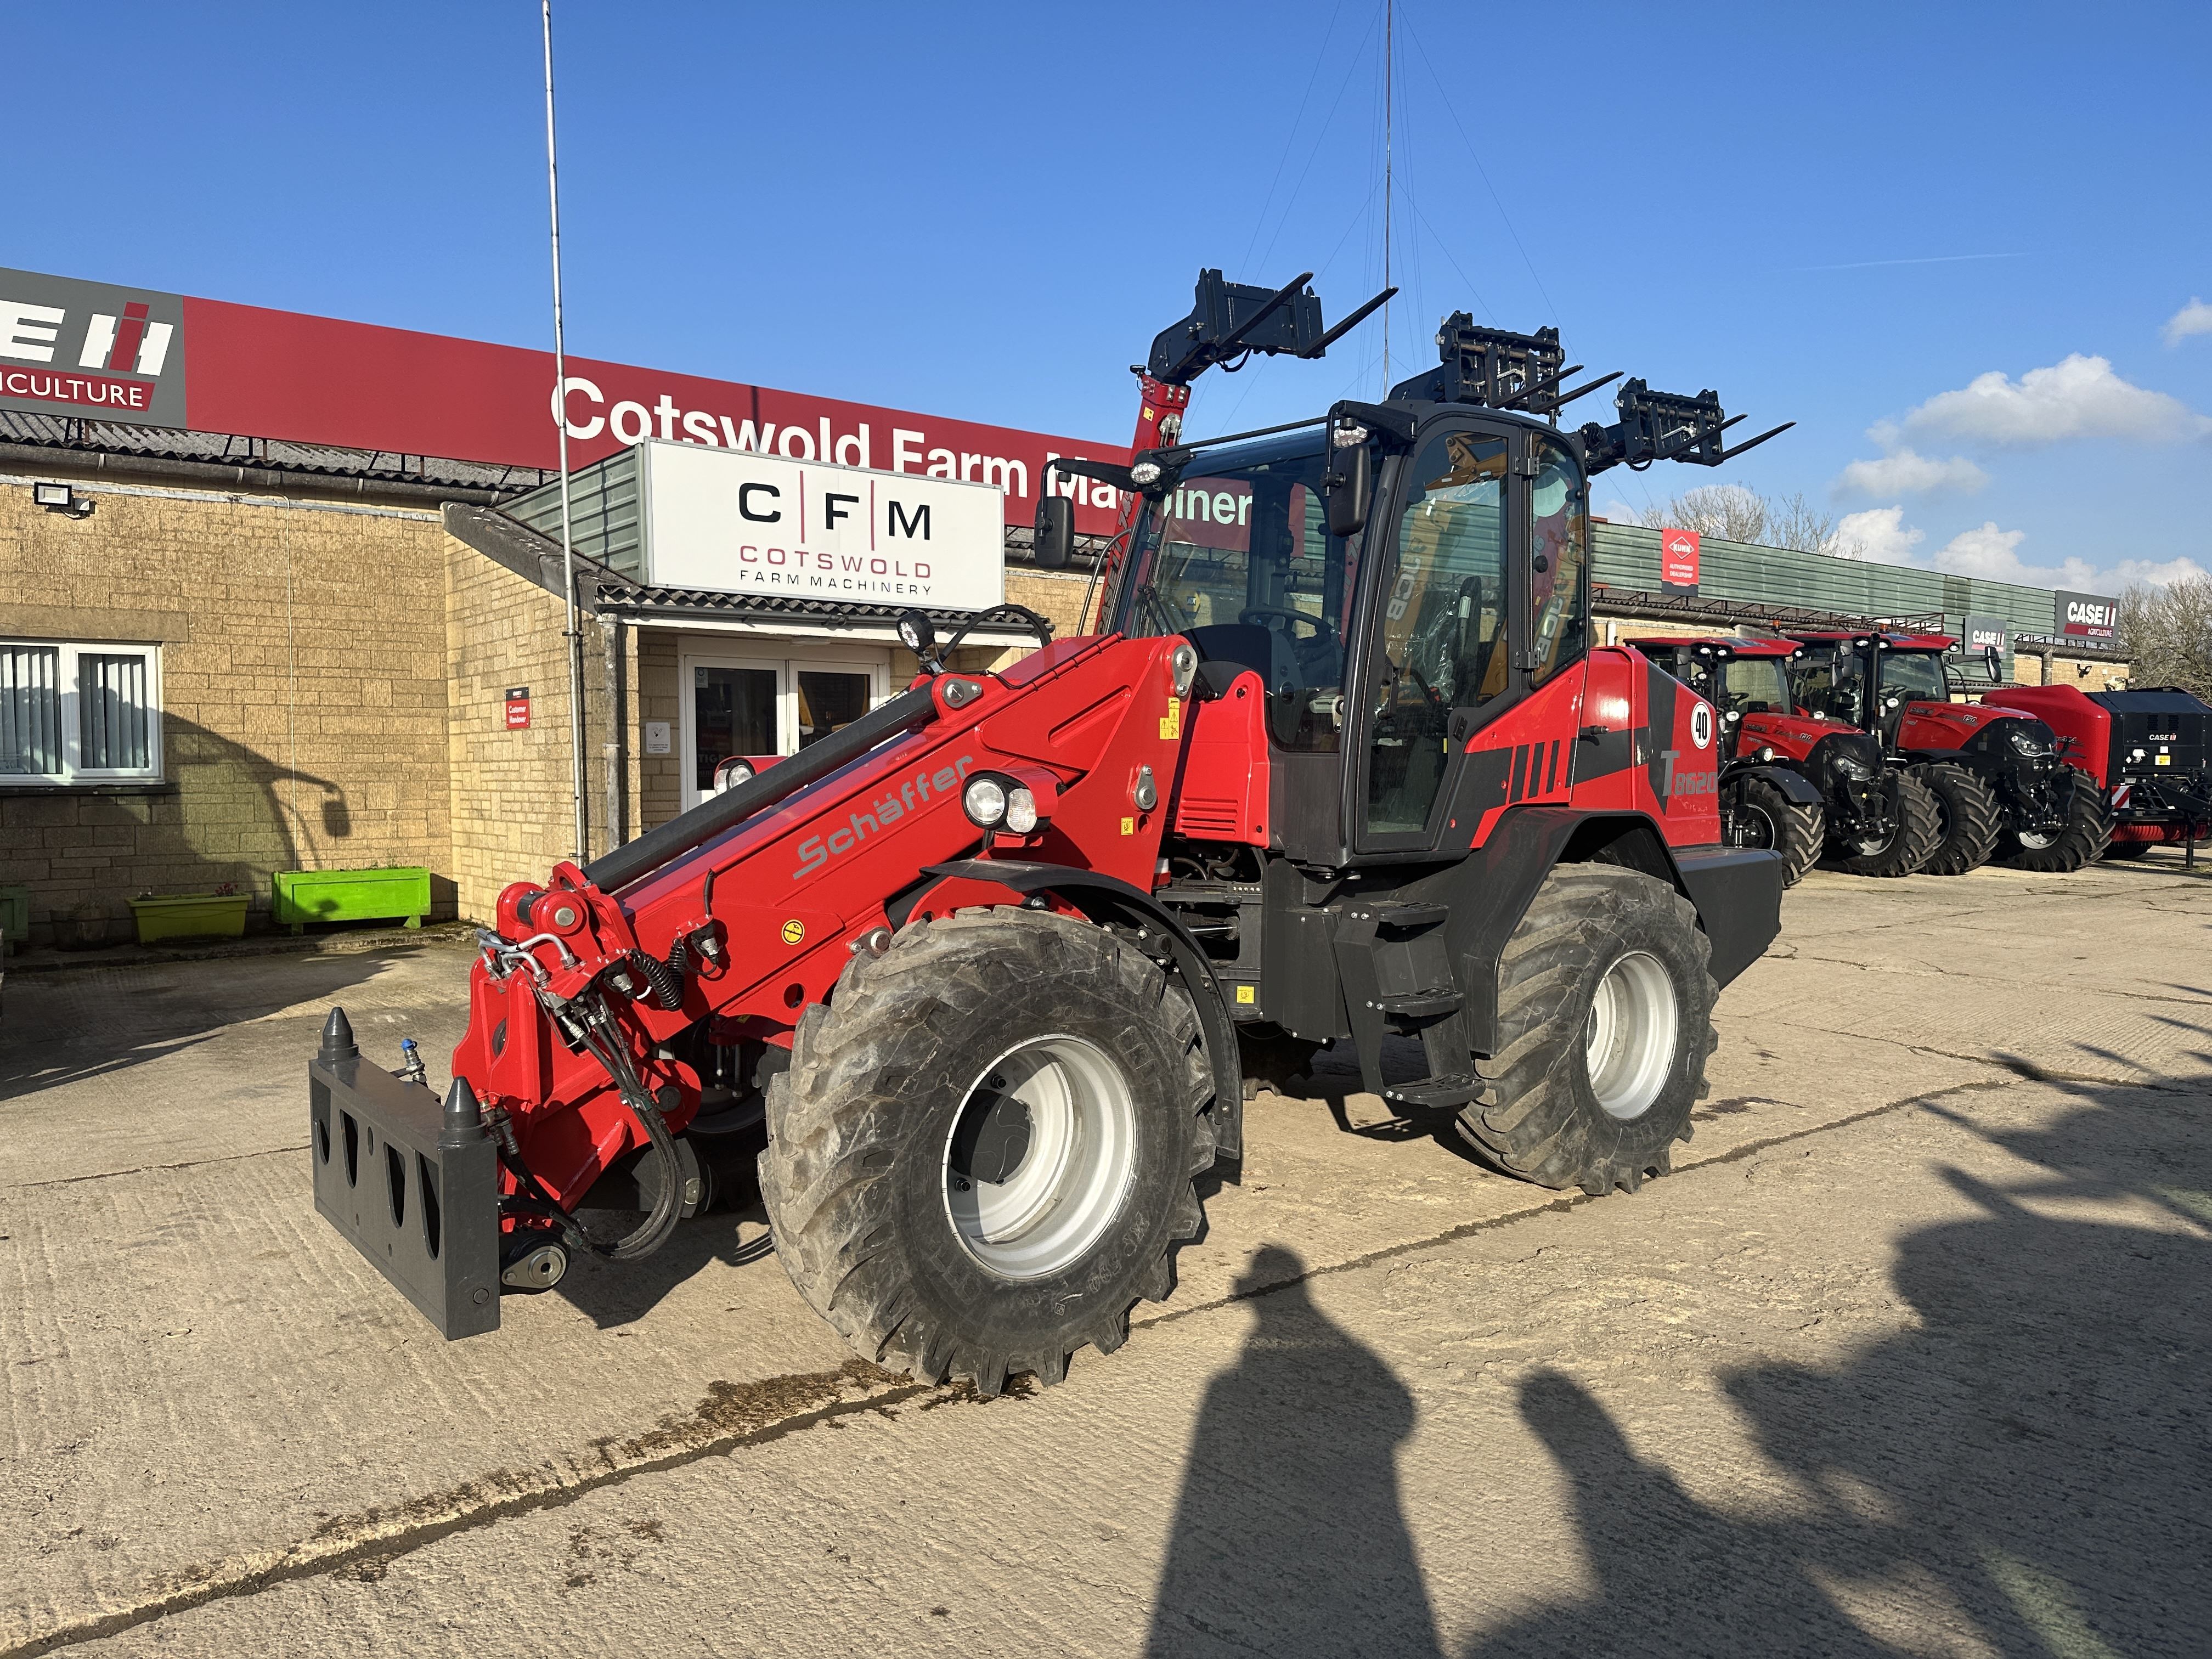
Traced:
<svg viewBox="0 0 2212 1659">
<path fill-rule="evenodd" d="M 1332 316 L 1383 281 L 1380 0 L 555 29 L 580 354 L 1119 440 L 1201 263 L 1316 270 Z M 18 9 L 9 40 L 11 173 L 53 210 L 0 263 L 546 343 L 533 4 Z M 2212 566 L 2212 7 L 1402 0 L 1396 46 L 1394 378 L 1469 307 L 1798 420 L 1741 471 L 1615 471 L 1601 511 L 1741 476 L 1874 557 Z M 1190 429 L 1371 396 L 1380 347 L 1208 376 Z"/>
</svg>

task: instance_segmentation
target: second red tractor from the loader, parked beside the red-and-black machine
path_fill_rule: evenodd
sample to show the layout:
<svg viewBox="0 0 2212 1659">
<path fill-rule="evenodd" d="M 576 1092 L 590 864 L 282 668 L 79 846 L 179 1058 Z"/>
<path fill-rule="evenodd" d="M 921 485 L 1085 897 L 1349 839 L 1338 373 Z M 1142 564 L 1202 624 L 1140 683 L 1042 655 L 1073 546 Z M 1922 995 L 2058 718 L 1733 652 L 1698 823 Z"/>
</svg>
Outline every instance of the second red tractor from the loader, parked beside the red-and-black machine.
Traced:
<svg viewBox="0 0 2212 1659">
<path fill-rule="evenodd" d="M 1995 648 L 1980 686 L 1955 675 L 1940 633 L 1792 633 L 1798 701 L 1882 741 L 1891 765 L 1936 796 L 1938 838 L 1922 865 L 1962 876 L 1993 856 L 2015 869 L 2079 869 L 2104 856 L 2112 812 L 2097 781 L 2062 757 L 2035 712 L 1997 684 Z M 1982 701 L 1955 695 L 1986 690 Z"/>
</svg>

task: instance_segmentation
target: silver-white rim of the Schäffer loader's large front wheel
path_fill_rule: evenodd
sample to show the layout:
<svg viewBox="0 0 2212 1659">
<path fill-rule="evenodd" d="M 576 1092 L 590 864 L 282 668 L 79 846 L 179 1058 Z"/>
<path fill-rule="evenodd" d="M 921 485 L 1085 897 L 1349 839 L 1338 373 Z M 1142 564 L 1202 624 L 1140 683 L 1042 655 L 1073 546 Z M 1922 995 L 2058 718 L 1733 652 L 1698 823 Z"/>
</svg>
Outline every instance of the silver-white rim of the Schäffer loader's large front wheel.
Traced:
<svg viewBox="0 0 2212 1659">
<path fill-rule="evenodd" d="M 998 1102 L 1029 1117 L 1029 1146 L 1002 1181 L 962 1166 L 962 1130 Z M 945 1130 L 945 1219 L 1000 1279 L 1042 1279 L 1088 1252 L 1121 1212 L 1137 1166 L 1128 1077 L 1093 1042 L 1020 1042 L 978 1073 Z"/>
</svg>

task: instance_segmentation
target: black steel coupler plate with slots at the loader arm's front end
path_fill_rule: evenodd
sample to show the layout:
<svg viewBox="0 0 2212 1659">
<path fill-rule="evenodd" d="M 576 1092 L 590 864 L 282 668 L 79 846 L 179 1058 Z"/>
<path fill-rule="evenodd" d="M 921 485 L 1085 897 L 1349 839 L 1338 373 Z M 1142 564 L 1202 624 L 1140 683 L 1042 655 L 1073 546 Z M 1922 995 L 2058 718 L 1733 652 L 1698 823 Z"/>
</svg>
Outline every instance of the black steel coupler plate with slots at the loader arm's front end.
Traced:
<svg viewBox="0 0 2212 1659">
<path fill-rule="evenodd" d="M 469 1084 L 367 1064 L 343 1009 L 307 1062 L 314 1208 L 447 1338 L 500 1327 L 500 1164 Z"/>
</svg>

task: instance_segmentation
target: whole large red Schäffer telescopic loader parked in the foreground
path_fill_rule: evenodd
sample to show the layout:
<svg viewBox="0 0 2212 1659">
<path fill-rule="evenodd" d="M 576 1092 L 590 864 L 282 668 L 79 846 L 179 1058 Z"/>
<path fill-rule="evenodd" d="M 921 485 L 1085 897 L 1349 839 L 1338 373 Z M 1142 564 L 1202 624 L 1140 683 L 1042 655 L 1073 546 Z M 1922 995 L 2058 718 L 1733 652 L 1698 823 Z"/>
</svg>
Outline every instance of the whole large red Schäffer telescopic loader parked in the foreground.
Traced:
<svg viewBox="0 0 2212 1659">
<path fill-rule="evenodd" d="M 1208 272 L 1155 378 L 1318 356 L 1301 285 Z M 1590 644 L 1586 480 L 1719 465 L 1728 420 L 1628 383 L 1557 429 L 1548 330 L 1442 356 L 1383 403 L 1075 462 L 1135 495 L 1104 628 L 947 672 L 909 613 L 907 690 L 511 885 L 442 1104 L 332 1011 L 316 1208 L 445 1336 L 489 1332 L 502 1287 L 666 1243 L 712 1197 L 695 1117 L 759 1088 L 792 1283 L 869 1360 L 989 1396 L 1168 1296 L 1194 1183 L 1243 1150 L 1241 1037 L 1349 1044 L 1544 1186 L 1663 1172 L 1781 863 L 1721 843 L 1712 706 Z M 1385 1071 L 1394 1035 L 1425 1075 Z M 646 1212 L 626 1237 L 577 1221 L 606 1192 Z"/>
</svg>

